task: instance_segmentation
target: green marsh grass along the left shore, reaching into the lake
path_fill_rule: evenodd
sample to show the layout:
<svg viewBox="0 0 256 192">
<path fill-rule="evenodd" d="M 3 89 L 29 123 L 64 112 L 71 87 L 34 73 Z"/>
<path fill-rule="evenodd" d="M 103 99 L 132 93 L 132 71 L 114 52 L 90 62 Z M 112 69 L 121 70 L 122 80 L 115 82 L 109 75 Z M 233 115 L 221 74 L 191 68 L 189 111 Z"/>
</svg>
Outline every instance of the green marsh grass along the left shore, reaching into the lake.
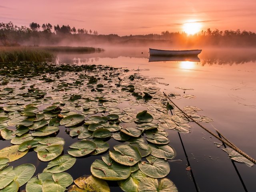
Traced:
<svg viewBox="0 0 256 192">
<path fill-rule="evenodd" d="M 0 62 L 36 61 L 54 62 L 56 52 L 93 53 L 102 52 L 102 48 L 93 47 L 0 47 Z"/>
</svg>

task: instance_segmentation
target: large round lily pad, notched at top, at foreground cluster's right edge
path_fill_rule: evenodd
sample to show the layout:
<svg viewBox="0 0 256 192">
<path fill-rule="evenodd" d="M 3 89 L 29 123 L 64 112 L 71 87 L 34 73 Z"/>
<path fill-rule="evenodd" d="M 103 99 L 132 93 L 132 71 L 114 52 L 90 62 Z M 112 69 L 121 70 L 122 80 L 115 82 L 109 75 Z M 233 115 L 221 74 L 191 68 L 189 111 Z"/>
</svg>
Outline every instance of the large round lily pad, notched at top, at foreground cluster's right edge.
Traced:
<svg viewBox="0 0 256 192">
<path fill-rule="evenodd" d="M 163 159 L 154 157 L 152 155 L 146 157 L 148 162 L 139 162 L 140 170 L 152 178 L 162 178 L 168 175 L 170 172 L 170 166 L 168 162 Z"/>
</svg>

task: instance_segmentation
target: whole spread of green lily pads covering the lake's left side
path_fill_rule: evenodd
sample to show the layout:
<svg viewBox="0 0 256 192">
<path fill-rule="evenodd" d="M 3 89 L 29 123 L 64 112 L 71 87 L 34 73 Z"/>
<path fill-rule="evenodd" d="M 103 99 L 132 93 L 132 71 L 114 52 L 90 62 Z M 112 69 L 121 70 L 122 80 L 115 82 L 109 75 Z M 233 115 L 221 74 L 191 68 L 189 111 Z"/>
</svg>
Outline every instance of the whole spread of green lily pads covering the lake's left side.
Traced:
<svg viewBox="0 0 256 192">
<path fill-rule="evenodd" d="M 166 178 L 175 157 L 166 129 L 189 133 L 191 126 L 180 110 L 170 114 L 173 106 L 155 78 L 108 66 L 0 65 L 0 134 L 12 144 L 0 150 L 1 190 L 18 191 L 27 183 L 26 192 L 108 192 L 104 180 L 116 180 L 127 192 L 177 191 Z M 197 107 L 184 110 L 198 122 L 212 122 Z M 68 138 L 58 137 L 64 131 L 78 138 L 67 151 Z M 109 140 L 118 143 L 112 150 Z M 49 162 L 36 177 L 32 164 L 8 166 L 32 151 Z M 71 185 L 64 171 L 76 158 L 98 154 L 104 156 L 90 165 L 92 175 L 81 173 Z"/>
</svg>

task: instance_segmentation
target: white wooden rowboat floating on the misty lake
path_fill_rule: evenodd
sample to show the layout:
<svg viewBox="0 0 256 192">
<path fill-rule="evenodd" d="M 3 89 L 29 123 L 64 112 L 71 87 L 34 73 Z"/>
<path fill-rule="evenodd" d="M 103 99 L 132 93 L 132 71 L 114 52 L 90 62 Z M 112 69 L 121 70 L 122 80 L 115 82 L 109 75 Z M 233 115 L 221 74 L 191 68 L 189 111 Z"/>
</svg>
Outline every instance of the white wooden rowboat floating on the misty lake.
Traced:
<svg viewBox="0 0 256 192">
<path fill-rule="evenodd" d="M 202 50 L 160 50 L 149 48 L 149 54 L 152 56 L 197 56 Z"/>
</svg>

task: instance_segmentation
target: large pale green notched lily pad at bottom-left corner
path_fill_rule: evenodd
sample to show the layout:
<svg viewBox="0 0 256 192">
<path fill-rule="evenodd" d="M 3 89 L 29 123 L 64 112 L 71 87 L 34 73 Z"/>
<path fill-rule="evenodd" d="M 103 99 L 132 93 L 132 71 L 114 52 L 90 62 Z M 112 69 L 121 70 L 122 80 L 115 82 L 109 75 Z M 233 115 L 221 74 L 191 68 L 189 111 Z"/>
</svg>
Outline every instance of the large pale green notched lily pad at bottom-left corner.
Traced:
<svg viewBox="0 0 256 192">
<path fill-rule="evenodd" d="M 35 171 L 36 167 L 32 164 L 22 164 L 17 166 L 0 180 L 0 189 L 5 188 L 12 181 L 18 182 L 19 186 L 24 185 L 30 178 L 32 178 Z"/>
</svg>

